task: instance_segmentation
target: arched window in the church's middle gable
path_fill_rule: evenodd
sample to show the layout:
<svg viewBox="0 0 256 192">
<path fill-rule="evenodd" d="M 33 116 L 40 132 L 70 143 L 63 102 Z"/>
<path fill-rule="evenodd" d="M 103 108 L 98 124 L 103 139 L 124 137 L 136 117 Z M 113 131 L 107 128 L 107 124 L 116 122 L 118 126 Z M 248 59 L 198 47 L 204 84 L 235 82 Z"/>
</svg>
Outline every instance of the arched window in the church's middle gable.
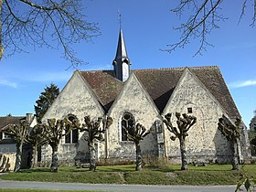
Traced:
<svg viewBox="0 0 256 192">
<path fill-rule="evenodd" d="M 135 123 L 133 115 L 129 112 L 125 112 L 122 117 L 122 141 L 129 141 L 127 137 L 127 131 L 129 134 L 133 134 L 131 127 Z"/>
</svg>

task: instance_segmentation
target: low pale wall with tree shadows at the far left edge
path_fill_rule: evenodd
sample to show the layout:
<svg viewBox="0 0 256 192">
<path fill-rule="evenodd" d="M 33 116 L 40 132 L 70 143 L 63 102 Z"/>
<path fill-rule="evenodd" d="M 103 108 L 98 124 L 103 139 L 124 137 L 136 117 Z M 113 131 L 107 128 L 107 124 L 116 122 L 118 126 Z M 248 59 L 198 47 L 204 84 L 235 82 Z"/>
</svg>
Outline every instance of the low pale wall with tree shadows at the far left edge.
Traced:
<svg viewBox="0 0 256 192">
<path fill-rule="evenodd" d="M 16 153 L 0 154 L 0 173 L 14 171 L 16 165 Z"/>
</svg>

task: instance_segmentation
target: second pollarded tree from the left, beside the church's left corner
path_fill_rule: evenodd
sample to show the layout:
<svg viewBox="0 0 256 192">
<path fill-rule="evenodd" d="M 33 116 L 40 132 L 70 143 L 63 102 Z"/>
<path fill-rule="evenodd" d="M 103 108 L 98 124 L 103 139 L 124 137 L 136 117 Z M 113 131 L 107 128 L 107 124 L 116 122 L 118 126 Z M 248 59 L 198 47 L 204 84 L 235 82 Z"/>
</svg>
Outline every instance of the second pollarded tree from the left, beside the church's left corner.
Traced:
<svg viewBox="0 0 256 192">
<path fill-rule="evenodd" d="M 44 136 L 45 130 L 43 126 L 36 125 L 34 126 L 27 138 L 27 142 L 32 145 L 32 167 L 37 167 L 37 155 L 38 155 L 38 147 L 47 144 L 47 138 Z"/>
</svg>

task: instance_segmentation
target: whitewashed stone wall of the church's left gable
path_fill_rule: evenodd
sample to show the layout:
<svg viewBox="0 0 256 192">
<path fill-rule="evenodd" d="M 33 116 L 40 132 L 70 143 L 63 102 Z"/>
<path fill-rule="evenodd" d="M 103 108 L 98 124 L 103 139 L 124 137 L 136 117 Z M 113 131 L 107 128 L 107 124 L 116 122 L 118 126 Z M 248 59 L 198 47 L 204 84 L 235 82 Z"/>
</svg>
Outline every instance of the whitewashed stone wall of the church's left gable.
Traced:
<svg viewBox="0 0 256 192">
<path fill-rule="evenodd" d="M 43 117 L 43 122 L 47 119 L 63 119 L 69 114 L 76 115 L 80 123 L 84 123 L 84 116 L 90 115 L 91 119 L 102 117 L 104 112 L 99 102 L 95 99 L 90 87 L 75 71 L 63 91 L 49 108 Z M 78 144 L 65 144 L 65 137 L 62 137 L 59 144 L 59 164 L 74 165 L 76 160 L 88 161 L 89 150 L 87 142 L 84 140 L 87 133 L 79 132 Z M 99 144 L 98 157 L 105 155 L 104 143 Z M 42 164 L 51 161 L 51 147 L 42 147 Z"/>
</svg>

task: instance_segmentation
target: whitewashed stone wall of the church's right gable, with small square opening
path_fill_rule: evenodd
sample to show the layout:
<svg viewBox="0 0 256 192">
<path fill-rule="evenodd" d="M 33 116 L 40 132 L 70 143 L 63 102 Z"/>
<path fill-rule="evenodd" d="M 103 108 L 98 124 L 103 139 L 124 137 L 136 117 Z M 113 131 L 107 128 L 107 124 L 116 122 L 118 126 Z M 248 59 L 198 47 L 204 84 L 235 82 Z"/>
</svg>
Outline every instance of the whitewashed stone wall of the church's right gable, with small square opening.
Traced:
<svg viewBox="0 0 256 192">
<path fill-rule="evenodd" d="M 187 157 L 190 161 L 223 161 L 229 159 L 229 144 L 218 130 L 219 117 L 226 112 L 219 106 L 208 90 L 188 69 L 176 86 L 164 114 L 172 112 L 172 120 L 176 125 L 175 112 L 187 113 L 197 117 L 197 123 L 191 127 L 186 138 Z M 171 134 L 165 130 L 165 147 L 170 159 L 180 159 L 179 142 L 170 140 Z M 199 159 L 198 159 L 199 157 Z"/>
</svg>

